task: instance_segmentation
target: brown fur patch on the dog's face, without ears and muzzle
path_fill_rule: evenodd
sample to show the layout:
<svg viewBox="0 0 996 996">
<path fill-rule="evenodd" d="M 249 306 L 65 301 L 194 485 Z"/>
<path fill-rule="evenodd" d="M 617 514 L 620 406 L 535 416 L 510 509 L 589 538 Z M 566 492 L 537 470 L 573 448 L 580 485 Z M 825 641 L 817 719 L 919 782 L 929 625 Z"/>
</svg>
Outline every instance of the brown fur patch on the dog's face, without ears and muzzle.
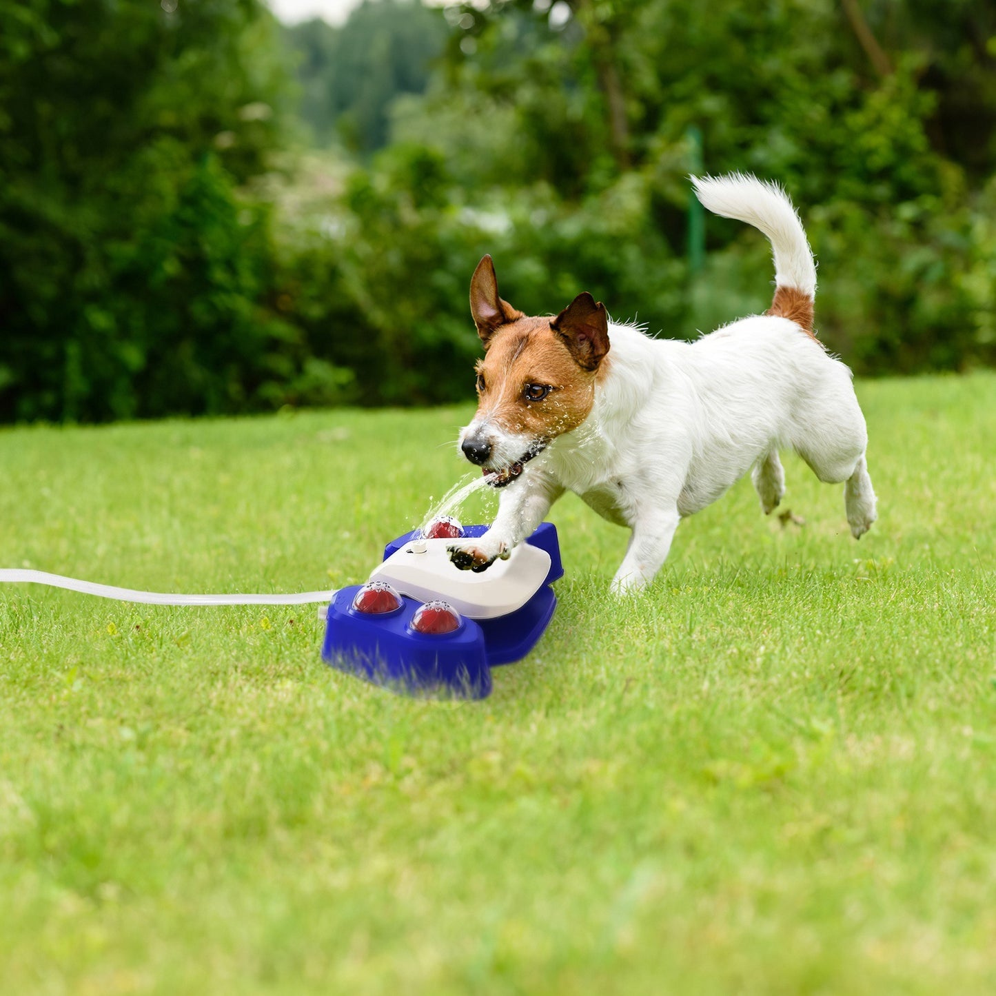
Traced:
<svg viewBox="0 0 996 996">
<path fill-rule="evenodd" d="M 477 364 L 484 377 L 477 417 L 490 416 L 508 432 L 550 440 L 576 429 L 595 401 L 597 371 L 578 366 L 549 318 L 521 318 L 495 332 Z M 542 401 L 527 401 L 528 383 L 553 388 Z"/>
</svg>

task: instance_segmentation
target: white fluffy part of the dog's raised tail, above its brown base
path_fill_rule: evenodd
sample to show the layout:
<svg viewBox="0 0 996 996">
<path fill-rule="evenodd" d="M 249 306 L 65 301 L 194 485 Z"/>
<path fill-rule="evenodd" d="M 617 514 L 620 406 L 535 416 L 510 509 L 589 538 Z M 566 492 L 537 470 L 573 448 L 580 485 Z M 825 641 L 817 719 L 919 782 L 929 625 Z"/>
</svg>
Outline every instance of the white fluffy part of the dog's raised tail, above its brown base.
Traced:
<svg viewBox="0 0 996 996">
<path fill-rule="evenodd" d="M 777 183 L 744 173 L 690 177 L 695 195 L 713 214 L 760 229 L 771 241 L 775 284 L 816 298 L 816 263 L 792 200 Z"/>
</svg>

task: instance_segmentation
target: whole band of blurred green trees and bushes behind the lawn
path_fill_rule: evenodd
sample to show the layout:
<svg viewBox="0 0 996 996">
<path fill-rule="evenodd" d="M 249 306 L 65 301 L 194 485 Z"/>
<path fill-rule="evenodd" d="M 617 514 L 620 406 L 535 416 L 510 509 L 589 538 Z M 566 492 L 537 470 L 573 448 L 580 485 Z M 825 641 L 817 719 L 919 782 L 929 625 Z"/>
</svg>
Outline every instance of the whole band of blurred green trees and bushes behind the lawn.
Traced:
<svg viewBox="0 0 996 996">
<path fill-rule="evenodd" d="M 981 0 L 367 0 L 283 30 L 257 0 L 0 0 L 0 24 L 0 418 L 466 396 L 485 251 L 518 307 L 585 288 L 694 335 L 770 291 L 734 223 L 689 266 L 703 167 L 789 187 L 861 373 L 996 359 Z"/>
</svg>

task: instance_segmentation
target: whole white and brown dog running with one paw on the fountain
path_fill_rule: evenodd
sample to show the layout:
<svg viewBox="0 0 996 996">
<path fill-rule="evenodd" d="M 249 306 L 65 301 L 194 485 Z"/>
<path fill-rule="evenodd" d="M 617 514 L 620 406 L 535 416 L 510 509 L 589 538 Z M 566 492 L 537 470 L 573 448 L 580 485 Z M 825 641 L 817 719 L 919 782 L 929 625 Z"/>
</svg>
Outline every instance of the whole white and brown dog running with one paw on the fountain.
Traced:
<svg viewBox="0 0 996 996">
<path fill-rule="evenodd" d="M 851 371 L 814 333 L 816 264 L 792 201 L 752 175 L 691 181 L 710 211 L 771 242 L 775 295 L 764 315 L 695 342 L 651 339 L 611 321 L 587 292 L 556 317 L 524 315 L 499 296 L 491 257 L 478 264 L 470 310 L 484 358 L 477 412 L 458 445 L 503 490 L 491 528 L 448 548 L 456 567 L 484 571 L 509 556 L 571 490 L 632 530 L 612 590 L 638 592 L 681 519 L 752 467 L 761 508 L 776 508 L 784 447 L 821 481 L 844 483 L 856 539 L 871 528 L 865 416 Z"/>
</svg>

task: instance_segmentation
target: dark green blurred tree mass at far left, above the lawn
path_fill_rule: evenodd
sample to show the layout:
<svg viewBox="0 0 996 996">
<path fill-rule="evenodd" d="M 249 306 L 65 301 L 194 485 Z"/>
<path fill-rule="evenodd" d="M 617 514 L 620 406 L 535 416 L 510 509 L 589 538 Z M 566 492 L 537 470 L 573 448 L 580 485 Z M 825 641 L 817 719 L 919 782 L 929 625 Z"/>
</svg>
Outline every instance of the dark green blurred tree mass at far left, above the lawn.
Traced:
<svg viewBox="0 0 996 996">
<path fill-rule="evenodd" d="M 257 0 L 0 0 L 0 418 L 232 410 L 288 375 L 265 218 Z"/>
</svg>

